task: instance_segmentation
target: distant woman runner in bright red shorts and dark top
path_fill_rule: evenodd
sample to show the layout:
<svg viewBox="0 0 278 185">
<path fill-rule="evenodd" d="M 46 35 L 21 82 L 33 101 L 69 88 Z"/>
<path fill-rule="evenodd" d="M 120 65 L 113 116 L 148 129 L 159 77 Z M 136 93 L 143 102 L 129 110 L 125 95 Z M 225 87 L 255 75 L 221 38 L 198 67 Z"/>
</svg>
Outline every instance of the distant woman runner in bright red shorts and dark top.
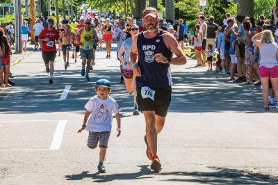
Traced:
<svg viewBox="0 0 278 185">
<path fill-rule="evenodd" d="M 110 23 L 110 19 L 107 18 L 105 20 L 104 26 L 101 28 L 101 33 L 104 33 L 104 42 L 106 45 L 106 58 L 111 58 L 111 42 L 113 40 L 113 31 L 115 31 L 115 27 Z"/>
</svg>

